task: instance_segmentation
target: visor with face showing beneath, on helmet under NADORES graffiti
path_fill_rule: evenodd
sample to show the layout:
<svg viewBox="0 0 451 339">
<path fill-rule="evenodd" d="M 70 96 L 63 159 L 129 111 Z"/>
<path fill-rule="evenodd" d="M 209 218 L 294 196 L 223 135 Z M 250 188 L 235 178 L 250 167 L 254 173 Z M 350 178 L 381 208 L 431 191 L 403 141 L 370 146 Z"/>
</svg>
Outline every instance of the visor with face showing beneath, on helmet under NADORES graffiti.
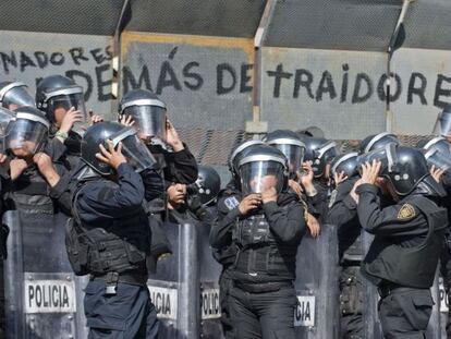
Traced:
<svg viewBox="0 0 451 339">
<path fill-rule="evenodd" d="M 77 121 L 72 126 L 72 131 L 83 135 L 87 126 L 87 112 L 85 107 L 85 98 L 83 94 L 83 88 L 81 86 L 74 86 L 71 88 L 64 88 L 56 90 L 49 94 L 46 94 L 47 99 L 47 110 L 53 112 L 53 121 L 60 124 L 64 119 L 65 113 L 74 107 L 75 110 L 80 111 L 82 121 Z"/>
</svg>

